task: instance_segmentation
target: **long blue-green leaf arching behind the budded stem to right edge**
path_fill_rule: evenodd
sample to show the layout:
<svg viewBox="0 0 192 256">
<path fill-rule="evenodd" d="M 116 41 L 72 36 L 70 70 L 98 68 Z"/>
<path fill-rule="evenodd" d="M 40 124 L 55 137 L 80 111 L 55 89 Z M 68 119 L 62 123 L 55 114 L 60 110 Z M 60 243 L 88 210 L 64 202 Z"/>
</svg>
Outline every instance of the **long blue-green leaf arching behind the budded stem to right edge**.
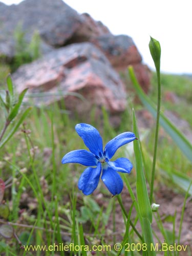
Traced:
<svg viewBox="0 0 192 256">
<path fill-rule="evenodd" d="M 129 67 L 129 74 L 133 82 L 133 86 L 137 92 L 137 95 L 139 96 L 143 105 L 147 108 L 148 111 L 152 113 L 154 117 L 156 117 L 156 106 L 141 89 L 135 77 L 133 67 Z M 174 142 L 177 144 L 183 154 L 188 158 L 188 160 L 192 161 L 192 145 L 185 138 L 185 136 L 176 128 L 176 126 L 172 122 L 170 122 L 168 118 L 166 118 L 162 113 L 160 114 L 160 124 L 163 126 L 167 134 L 174 140 Z"/>
</svg>

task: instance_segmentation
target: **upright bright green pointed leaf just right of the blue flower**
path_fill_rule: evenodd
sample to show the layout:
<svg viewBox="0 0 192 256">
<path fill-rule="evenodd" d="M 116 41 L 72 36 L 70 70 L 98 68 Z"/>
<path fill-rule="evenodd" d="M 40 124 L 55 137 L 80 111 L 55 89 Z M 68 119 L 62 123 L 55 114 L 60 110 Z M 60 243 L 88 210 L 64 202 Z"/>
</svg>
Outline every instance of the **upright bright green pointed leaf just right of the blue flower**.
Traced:
<svg viewBox="0 0 192 256">
<path fill-rule="evenodd" d="M 135 111 L 133 110 L 133 132 L 136 138 L 139 138 L 137 129 Z M 150 200 L 148 198 L 148 192 L 146 187 L 146 180 L 143 172 L 142 156 L 139 145 L 139 140 L 134 140 L 134 152 L 136 158 L 136 191 L 137 201 L 139 206 L 139 212 L 142 218 L 147 218 L 152 223 L 152 209 Z"/>
</svg>

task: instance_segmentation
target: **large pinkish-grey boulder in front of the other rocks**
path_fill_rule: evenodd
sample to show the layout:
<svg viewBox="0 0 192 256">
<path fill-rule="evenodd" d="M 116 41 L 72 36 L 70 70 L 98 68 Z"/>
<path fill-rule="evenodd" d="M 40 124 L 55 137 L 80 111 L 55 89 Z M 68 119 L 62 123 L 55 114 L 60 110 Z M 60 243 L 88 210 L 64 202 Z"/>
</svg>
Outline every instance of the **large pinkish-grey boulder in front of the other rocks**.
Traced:
<svg viewBox="0 0 192 256">
<path fill-rule="evenodd" d="M 20 67 L 13 74 L 13 81 L 18 92 L 29 88 L 28 96 L 49 92 L 50 96 L 42 94 L 43 97 L 33 98 L 38 105 L 65 98 L 66 108 L 78 113 L 89 113 L 93 105 L 105 106 L 111 113 L 121 112 L 126 107 L 125 88 L 118 73 L 104 54 L 89 42 L 51 51 Z"/>
</svg>

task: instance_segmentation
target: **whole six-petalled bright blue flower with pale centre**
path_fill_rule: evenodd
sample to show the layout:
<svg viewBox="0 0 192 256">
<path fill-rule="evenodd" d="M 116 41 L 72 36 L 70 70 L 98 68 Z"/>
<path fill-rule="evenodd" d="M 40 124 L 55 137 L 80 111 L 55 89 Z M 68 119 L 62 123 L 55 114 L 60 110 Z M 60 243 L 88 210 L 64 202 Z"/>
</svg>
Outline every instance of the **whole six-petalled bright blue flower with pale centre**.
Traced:
<svg viewBox="0 0 192 256">
<path fill-rule="evenodd" d="M 131 132 L 119 134 L 106 144 L 103 151 L 102 138 L 95 127 L 87 123 L 79 123 L 75 126 L 75 130 L 90 152 L 87 150 L 71 151 L 62 158 L 61 162 L 96 166 L 84 170 L 79 178 L 78 188 L 84 195 L 92 194 L 101 176 L 101 180 L 113 195 L 120 194 L 123 181 L 118 172 L 129 174 L 133 165 L 126 158 L 118 158 L 114 162 L 110 159 L 120 146 L 135 140 L 135 134 Z"/>
</svg>

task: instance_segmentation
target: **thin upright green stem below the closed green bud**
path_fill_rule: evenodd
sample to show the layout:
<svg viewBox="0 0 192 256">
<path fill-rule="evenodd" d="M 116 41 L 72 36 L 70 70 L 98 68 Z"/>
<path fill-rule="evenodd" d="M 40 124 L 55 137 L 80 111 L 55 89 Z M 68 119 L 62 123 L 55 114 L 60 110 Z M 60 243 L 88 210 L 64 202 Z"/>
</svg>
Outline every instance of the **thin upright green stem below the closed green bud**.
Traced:
<svg viewBox="0 0 192 256">
<path fill-rule="evenodd" d="M 154 179 L 155 179 L 155 165 L 156 165 L 157 144 L 158 144 L 158 134 L 159 134 L 159 118 L 160 118 L 160 107 L 161 107 L 160 67 L 159 68 L 156 67 L 156 72 L 157 72 L 158 99 L 157 99 L 157 119 L 156 119 L 154 156 L 153 156 L 153 168 L 152 168 L 151 191 L 150 191 L 150 203 L 151 204 L 152 204 L 152 200 L 153 200 Z"/>
</svg>

